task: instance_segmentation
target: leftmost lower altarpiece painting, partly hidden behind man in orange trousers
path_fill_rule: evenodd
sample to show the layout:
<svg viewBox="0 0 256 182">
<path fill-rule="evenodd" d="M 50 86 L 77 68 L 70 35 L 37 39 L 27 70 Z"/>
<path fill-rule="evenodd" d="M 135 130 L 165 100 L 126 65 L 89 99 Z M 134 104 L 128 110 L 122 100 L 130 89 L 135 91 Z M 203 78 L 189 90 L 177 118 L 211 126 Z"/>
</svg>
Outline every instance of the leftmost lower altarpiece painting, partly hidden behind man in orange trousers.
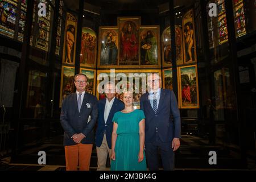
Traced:
<svg viewBox="0 0 256 182">
<path fill-rule="evenodd" d="M 74 78 L 74 67 L 62 67 L 60 82 L 60 107 L 64 98 L 73 93 L 73 90 L 75 89 Z"/>
</svg>

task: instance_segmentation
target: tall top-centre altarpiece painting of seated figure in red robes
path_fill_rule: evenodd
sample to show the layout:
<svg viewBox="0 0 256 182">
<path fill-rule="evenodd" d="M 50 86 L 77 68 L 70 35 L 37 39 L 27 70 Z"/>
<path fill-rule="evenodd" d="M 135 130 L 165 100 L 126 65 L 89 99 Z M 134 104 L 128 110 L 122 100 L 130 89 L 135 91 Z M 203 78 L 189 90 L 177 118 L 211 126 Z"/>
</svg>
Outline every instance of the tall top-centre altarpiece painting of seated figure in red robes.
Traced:
<svg viewBox="0 0 256 182">
<path fill-rule="evenodd" d="M 119 65 L 139 65 L 139 26 L 141 18 L 118 17 Z"/>
</svg>

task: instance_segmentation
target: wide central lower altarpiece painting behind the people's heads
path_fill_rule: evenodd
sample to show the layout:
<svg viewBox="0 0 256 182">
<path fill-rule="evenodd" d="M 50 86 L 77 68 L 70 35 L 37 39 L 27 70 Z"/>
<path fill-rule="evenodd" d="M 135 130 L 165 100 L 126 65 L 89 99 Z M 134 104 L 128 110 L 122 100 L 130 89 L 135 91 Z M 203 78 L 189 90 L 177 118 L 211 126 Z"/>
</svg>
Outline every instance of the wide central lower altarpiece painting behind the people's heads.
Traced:
<svg viewBox="0 0 256 182">
<path fill-rule="evenodd" d="M 134 90 L 134 109 L 139 109 L 139 102 L 143 93 L 147 92 L 147 76 L 149 73 L 158 73 L 161 77 L 160 70 L 100 70 L 97 72 L 97 98 L 101 100 L 106 98 L 104 93 L 104 83 L 112 81 L 115 83 L 115 97 L 119 100 L 123 100 L 121 89 L 123 89 L 122 82 L 125 87 L 129 89 L 130 87 Z M 126 80 L 125 80 L 125 79 Z"/>
</svg>

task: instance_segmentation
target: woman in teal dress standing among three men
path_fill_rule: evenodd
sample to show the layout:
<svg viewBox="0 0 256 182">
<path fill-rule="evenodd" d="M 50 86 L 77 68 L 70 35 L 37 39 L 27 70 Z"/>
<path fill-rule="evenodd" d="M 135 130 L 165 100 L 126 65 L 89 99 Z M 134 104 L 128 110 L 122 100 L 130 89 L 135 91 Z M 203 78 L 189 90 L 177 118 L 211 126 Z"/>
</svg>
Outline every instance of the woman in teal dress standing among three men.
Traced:
<svg viewBox="0 0 256 182">
<path fill-rule="evenodd" d="M 133 109 L 133 93 L 124 92 L 125 109 L 114 114 L 112 133 L 112 171 L 146 171 L 144 154 L 145 116 Z"/>
</svg>

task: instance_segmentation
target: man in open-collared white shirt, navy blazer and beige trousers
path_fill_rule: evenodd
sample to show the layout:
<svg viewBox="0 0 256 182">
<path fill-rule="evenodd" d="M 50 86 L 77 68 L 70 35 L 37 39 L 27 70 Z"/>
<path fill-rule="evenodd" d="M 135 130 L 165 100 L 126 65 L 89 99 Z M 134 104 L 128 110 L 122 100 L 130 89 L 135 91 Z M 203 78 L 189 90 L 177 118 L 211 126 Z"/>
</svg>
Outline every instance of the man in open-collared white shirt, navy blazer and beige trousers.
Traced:
<svg viewBox="0 0 256 182">
<path fill-rule="evenodd" d="M 105 89 L 106 97 L 98 101 L 98 127 L 96 131 L 96 150 L 98 171 L 106 170 L 106 159 L 111 156 L 111 137 L 113 116 L 125 108 L 122 101 L 115 98 L 115 84 L 108 82 Z"/>
</svg>

